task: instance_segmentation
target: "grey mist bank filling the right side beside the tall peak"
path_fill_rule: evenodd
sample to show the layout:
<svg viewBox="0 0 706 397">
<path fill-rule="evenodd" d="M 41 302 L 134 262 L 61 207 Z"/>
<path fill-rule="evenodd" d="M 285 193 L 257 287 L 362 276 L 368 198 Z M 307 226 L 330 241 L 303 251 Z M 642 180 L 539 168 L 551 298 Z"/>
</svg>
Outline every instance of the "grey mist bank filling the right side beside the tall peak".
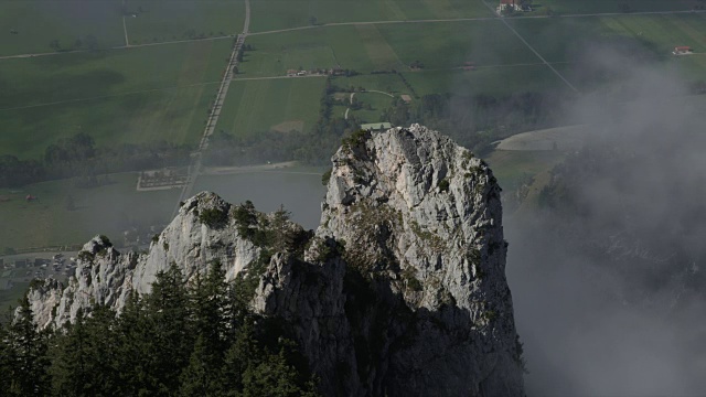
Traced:
<svg viewBox="0 0 706 397">
<path fill-rule="evenodd" d="M 527 395 L 704 395 L 706 100 L 667 62 L 586 58 L 616 82 L 567 112 L 586 147 L 505 219 Z"/>
</svg>

